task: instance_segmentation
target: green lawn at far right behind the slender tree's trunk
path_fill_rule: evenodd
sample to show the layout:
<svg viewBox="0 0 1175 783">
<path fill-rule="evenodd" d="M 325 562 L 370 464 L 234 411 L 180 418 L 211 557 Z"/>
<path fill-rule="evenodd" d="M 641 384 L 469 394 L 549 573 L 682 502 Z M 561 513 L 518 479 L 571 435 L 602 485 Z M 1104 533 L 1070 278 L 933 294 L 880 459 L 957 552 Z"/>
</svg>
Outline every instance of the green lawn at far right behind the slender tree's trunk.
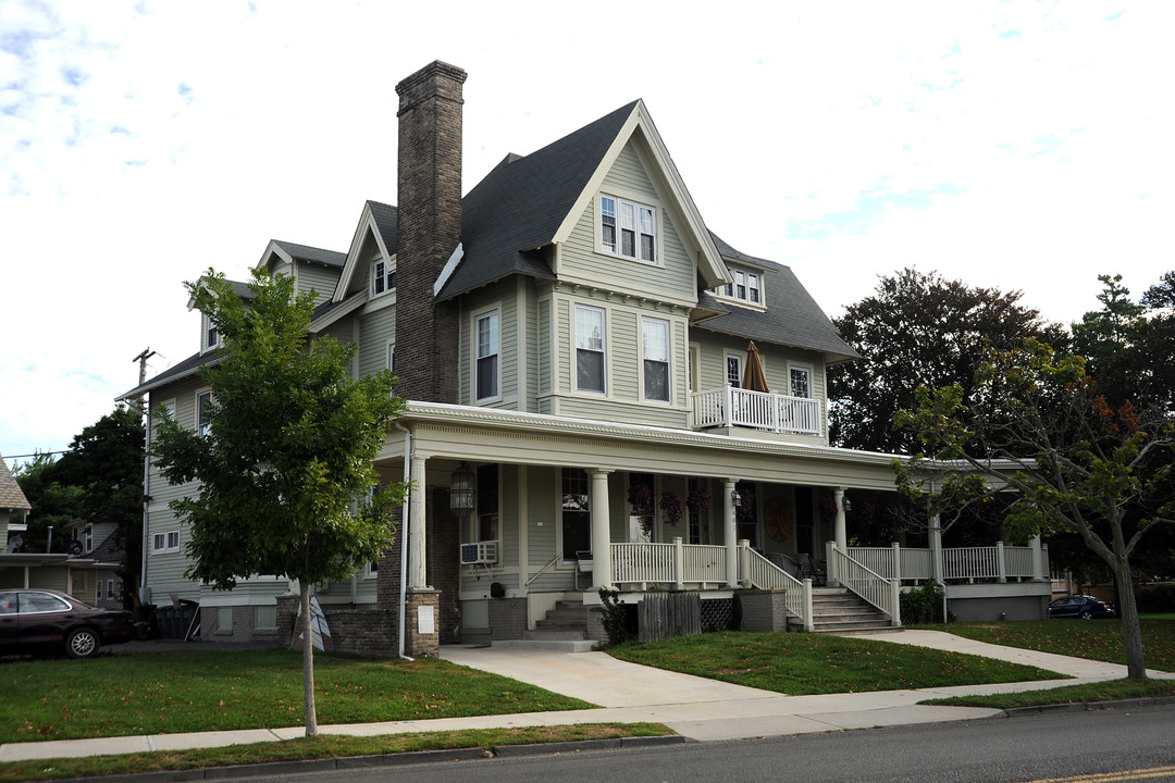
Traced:
<svg viewBox="0 0 1175 783">
<path fill-rule="evenodd" d="M 1175 671 L 1175 617 L 1148 615 L 1142 617 L 1141 625 L 1147 668 Z M 993 644 L 1126 664 L 1121 620 L 958 622 L 919 627 Z"/>
</svg>

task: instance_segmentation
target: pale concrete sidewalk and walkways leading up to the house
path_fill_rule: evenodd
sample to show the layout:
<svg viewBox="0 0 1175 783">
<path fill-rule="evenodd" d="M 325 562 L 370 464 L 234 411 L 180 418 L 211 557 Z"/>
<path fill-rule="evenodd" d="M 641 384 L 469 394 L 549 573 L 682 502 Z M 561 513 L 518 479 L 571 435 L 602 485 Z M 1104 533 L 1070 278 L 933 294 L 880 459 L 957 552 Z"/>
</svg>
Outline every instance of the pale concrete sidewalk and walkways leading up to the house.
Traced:
<svg viewBox="0 0 1175 783">
<path fill-rule="evenodd" d="M 572 655 L 526 649 L 443 647 L 441 657 L 454 663 L 529 682 L 566 696 L 600 704 L 602 708 L 431 721 L 320 725 L 318 730 L 321 734 L 377 736 L 456 729 L 651 721 L 665 723 L 690 740 L 736 740 L 992 717 L 999 715 L 1000 710 L 968 707 L 922 707 L 916 702 L 940 696 L 1056 688 L 1126 676 L 1124 666 L 974 642 L 936 630 L 884 633 L 873 635 L 871 639 L 1026 663 L 1068 674 L 1076 680 L 885 690 L 866 694 L 786 696 L 686 674 L 650 669 L 618 661 L 604 653 Z M 1150 674 L 1156 677 L 1175 677 L 1175 674 L 1168 673 L 1152 671 Z M 9 743 L 0 745 L 0 762 L 98 756 L 143 750 L 214 748 L 249 742 L 290 740 L 303 734 L 304 729 L 301 727 L 291 727 Z"/>
</svg>

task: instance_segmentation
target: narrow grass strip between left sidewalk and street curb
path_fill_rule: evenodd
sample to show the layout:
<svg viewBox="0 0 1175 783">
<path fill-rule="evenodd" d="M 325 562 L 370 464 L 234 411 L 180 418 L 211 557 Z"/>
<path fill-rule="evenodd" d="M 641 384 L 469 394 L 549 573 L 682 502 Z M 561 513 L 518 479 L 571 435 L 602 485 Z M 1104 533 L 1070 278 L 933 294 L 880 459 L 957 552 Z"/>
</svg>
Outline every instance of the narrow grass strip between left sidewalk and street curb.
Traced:
<svg viewBox="0 0 1175 783">
<path fill-rule="evenodd" d="M 0 783 L 53 781 L 100 775 L 182 771 L 209 767 L 377 756 L 421 750 L 456 750 L 546 742 L 582 742 L 616 737 L 659 737 L 673 730 L 660 723 L 583 723 L 512 729 L 470 729 L 377 737 L 320 735 L 286 742 L 261 742 L 200 750 L 122 754 L 86 758 L 53 758 L 0 764 Z"/>
</svg>

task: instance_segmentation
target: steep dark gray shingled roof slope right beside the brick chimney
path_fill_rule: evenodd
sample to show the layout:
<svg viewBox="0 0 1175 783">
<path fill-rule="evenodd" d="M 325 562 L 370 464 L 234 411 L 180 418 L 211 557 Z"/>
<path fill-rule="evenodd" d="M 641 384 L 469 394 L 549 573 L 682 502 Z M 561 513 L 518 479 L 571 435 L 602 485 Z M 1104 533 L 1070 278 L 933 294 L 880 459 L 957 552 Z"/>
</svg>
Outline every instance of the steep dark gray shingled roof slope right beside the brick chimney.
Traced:
<svg viewBox="0 0 1175 783">
<path fill-rule="evenodd" d="M 508 275 L 553 278 L 550 244 L 624 127 L 633 101 L 526 156 L 508 155 L 462 200 L 464 257 L 438 299 Z"/>
</svg>

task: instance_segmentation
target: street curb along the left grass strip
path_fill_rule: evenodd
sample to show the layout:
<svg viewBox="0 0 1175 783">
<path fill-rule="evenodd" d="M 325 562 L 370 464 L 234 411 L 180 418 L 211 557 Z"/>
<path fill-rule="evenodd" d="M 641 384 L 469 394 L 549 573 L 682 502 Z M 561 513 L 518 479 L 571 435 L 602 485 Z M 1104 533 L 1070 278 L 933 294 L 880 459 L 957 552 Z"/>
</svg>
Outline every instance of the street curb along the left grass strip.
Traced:
<svg viewBox="0 0 1175 783">
<path fill-rule="evenodd" d="M 525 745 L 495 745 L 490 754 L 481 748 L 457 748 L 454 750 L 419 750 L 375 756 L 340 756 L 338 758 L 310 758 L 307 761 L 268 762 L 264 764 L 237 764 L 234 767 L 209 767 L 206 769 L 180 769 L 161 772 L 135 772 L 133 775 L 108 775 L 102 777 L 73 777 L 58 783 L 169 783 L 170 781 L 220 781 L 237 777 L 284 776 L 298 772 L 330 772 L 349 769 L 378 769 L 381 767 L 404 767 L 408 764 L 438 764 L 449 762 L 479 761 L 489 756 L 555 756 L 584 750 L 617 750 L 624 748 L 654 748 L 684 744 L 685 737 L 671 734 L 660 737 L 616 737 L 611 740 L 585 740 L 583 742 L 538 742 Z"/>
</svg>

